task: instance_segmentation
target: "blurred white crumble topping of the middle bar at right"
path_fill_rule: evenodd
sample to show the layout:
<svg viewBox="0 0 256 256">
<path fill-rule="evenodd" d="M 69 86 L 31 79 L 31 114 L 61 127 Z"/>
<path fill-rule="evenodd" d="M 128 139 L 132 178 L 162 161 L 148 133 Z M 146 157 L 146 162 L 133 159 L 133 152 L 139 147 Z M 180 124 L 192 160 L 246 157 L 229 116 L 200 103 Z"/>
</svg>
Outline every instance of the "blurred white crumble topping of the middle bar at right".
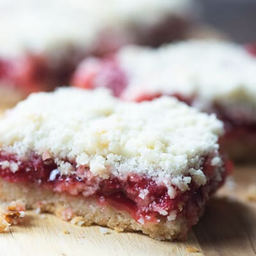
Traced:
<svg viewBox="0 0 256 256">
<path fill-rule="evenodd" d="M 129 79 L 121 95 L 127 100 L 145 93 L 180 93 L 196 95 L 199 108 L 214 100 L 256 105 L 256 59 L 233 42 L 189 40 L 157 50 L 124 47 L 116 59 Z"/>
</svg>

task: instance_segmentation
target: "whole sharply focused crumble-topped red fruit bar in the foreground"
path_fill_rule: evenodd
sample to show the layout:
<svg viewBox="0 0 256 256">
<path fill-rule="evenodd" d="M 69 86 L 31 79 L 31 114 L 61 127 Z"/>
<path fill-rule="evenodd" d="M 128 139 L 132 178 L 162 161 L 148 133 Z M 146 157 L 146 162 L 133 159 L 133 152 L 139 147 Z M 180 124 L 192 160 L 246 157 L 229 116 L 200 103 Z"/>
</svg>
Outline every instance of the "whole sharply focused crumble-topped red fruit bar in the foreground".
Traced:
<svg viewBox="0 0 256 256">
<path fill-rule="evenodd" d="M 33 93 L 0 120 L 0 198 L 85 225 L 184 239 L 228 166 L 222 123 L 172 97 Z"/>
</svg>

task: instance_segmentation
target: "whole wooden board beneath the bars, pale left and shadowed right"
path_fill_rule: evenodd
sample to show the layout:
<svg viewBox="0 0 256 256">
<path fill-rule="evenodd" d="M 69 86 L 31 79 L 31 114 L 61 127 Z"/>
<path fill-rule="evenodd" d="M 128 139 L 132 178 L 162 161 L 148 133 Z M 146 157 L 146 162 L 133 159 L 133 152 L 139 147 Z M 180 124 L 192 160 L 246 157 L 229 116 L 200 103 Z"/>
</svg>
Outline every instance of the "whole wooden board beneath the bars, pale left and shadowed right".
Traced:
<svg viewBox="0 0 256 256">
<path fill-rule="evenodd" d="M 51 214 L 28 212 L 22 225 L 0 234 L 0 255 L 256 255 L 256 201 L 247 198 L 249 186 L 256 185 L 256 166 L 237 168 L 234 179 L 209 202 L 188 241 L 76 227 Z"/>
</svg>

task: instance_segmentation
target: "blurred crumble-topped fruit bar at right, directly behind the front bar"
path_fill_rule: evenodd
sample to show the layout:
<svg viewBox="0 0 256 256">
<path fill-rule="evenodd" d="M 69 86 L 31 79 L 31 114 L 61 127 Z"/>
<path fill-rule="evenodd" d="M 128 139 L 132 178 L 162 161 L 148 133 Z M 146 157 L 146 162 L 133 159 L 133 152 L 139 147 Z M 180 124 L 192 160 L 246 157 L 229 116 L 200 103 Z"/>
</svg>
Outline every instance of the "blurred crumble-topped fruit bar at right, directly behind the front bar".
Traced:
<svg viewBox="0 0 256 256">
<path fill-rule="evenodd" d="M 233 159 L 253 160 L 256 59 L 253 47 L 248 49 L 212 40 L 189 40 L 159 49 L 124 47 L 109 58 L 84 60 L 72 83 L 81 88 L 105 86 L 124 100 L 172 95 L 216 113 L 225 124 L 223 148 Z"/>
</svg>

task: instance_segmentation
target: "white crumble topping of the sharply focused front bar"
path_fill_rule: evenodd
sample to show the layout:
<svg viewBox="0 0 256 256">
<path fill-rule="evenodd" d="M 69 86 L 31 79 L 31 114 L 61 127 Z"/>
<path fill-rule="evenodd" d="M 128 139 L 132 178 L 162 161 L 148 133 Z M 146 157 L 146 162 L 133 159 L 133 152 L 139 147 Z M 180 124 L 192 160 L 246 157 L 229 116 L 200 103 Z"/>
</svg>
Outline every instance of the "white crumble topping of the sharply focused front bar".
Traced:
<svg viewBox="0 0 256 256">
<path fill-rule="evenodd" d="M 54 159 L 63 175 L 88 166 L 93 175 L 125 179 L 136 173 L 182 191 L 193 181 L 204 185 L 204 156 L 219 170 L 222 123 L 171 97 L 152 102 L 122 102 L 103 89 L 61 88 L 35 93 L 0 120 L 3 154 L 20 161 L 35 152 Z M 19 161 L 1 168 L 19 169 Z"/>
</svg>

